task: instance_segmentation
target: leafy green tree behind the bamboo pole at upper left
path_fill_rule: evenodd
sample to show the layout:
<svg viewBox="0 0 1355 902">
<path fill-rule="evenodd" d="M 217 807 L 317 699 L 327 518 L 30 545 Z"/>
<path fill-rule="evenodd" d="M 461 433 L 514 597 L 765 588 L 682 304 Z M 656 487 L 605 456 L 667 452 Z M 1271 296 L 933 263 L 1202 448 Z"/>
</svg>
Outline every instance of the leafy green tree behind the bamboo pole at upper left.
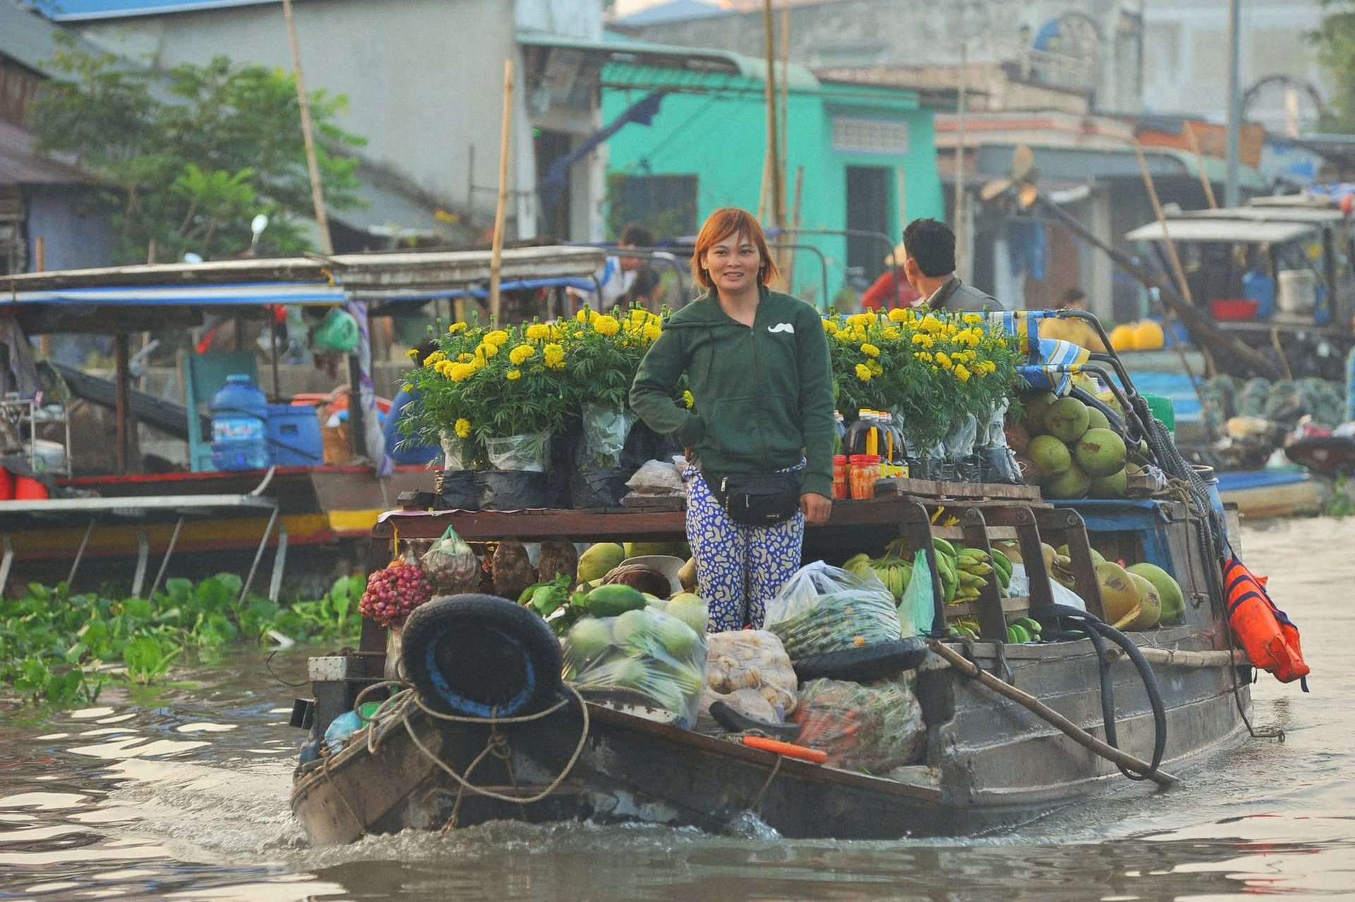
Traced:
<svg viewBox="0 0 1355 902">
<path fill-rule="evenodd" d="M 119 261 L 145 261 L 152 242 L 159 260 L 190 251 L 209 260 L 237 256 L 249 246 L 249 221 L 259 213 L 268 215 L 260 253 L 309 249 L 310 181 L 290 73 L 226 57 L 168 72 L 137 69 L 77 50 L 69 39 L 49 66 L 62 77 L 47 83 L 35 104 L 38 148 L 73 157 L 104 181 Z M 335 123 L 346 108 L 343 95 L 310 95 L 332 210 L 359 203 L 358 160 L 343 150 L 366 141 Z"/>
</svg>

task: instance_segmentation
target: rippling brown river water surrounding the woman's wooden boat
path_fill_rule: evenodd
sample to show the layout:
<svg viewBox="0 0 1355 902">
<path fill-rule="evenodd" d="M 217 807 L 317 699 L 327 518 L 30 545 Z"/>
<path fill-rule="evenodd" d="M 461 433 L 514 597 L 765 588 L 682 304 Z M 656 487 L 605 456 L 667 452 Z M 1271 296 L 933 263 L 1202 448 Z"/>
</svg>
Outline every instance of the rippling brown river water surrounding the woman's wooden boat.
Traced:
<svg viewBox="0 0 1355 902">
<path fill-rule="evenodd" d="M 287 809 L 304 689 L 245 651 L 191 685 L 0 721 L 0 899 L 1355 899 L 1355 519 L 1262 523 L 1243 544 L 1304 630 L 1313 691 L 1262 674 L 1255 721 L 1286 741 L 1167 792 L 966 840 L 497 823 L 313 848 Z M 282 657 L 301 679 L 304 656 Z"/>
</svg>

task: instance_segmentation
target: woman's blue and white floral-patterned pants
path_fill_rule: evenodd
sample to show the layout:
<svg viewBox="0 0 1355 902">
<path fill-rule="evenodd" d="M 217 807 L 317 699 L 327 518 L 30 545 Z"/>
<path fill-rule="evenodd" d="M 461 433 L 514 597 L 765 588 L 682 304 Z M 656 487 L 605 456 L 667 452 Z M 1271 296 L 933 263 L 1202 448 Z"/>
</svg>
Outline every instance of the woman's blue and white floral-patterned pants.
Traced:
<svg viewBox="0 0 1355 902">
<path fill-rule="evenodd" d="M 710 631 L 743 630 L 745 624 L 760 630 L 767 601 L 799 569 L 804 512 L 775 525 L 744 525 L 720 507 L 699 469 L 687 467 L 683 479 L 687 543 L 696 559 L 701 597 L 710 605 Z"/>
</svg>

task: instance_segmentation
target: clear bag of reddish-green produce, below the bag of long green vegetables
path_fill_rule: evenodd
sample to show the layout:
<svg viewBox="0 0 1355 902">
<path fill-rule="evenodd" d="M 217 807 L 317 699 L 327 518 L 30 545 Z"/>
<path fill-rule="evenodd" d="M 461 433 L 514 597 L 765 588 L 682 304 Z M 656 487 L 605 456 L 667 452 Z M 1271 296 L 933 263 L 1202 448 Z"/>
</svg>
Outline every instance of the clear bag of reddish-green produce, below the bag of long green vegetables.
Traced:
<svg viewBox="0 0 1355 902">
<path fill-rule="evenodd" d="M 917 697 L 901 679 L 875 683 L 810 680 L 791 718 L 798 745 L 828 754 L 847 771 L 885 773 L 920 758 L 927 739 Z"/>
</svg>

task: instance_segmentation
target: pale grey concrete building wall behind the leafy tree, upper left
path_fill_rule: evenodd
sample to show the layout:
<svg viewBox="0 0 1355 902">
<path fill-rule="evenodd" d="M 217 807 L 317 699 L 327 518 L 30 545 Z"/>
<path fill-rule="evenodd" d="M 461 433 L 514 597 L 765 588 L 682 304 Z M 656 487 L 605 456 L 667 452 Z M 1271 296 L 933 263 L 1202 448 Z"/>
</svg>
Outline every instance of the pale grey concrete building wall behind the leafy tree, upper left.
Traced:
<svg viewBox="0 0 1355 902">
<path fill-rule="evenodd" d="M 519 0 L 519 7 L 596 5 L 596 0 Z M 519 60 L 515 8 L 507 0 L 327 0 L 294 4 L 306 88 L 348 96 L 339 125 L 367 138 L 358 153 L 406 177 L 449 210 L 466 202 L 469 148 L 476 183 L 497 186 L 504 58 Z M 214 56 L 291 69 L 280 5 L 138 16 L 85 26 L 98 43 L 156 66 Z M 520 60 L 509 188 L 535 183 L 522 107 Z M 534 234 L 534 207 L 519 196 L 518 233 Z M 495 194 L 477 192 L 478 222 Z M 509 218 L 515 218 L 509 213 Z"/>
</svg>

